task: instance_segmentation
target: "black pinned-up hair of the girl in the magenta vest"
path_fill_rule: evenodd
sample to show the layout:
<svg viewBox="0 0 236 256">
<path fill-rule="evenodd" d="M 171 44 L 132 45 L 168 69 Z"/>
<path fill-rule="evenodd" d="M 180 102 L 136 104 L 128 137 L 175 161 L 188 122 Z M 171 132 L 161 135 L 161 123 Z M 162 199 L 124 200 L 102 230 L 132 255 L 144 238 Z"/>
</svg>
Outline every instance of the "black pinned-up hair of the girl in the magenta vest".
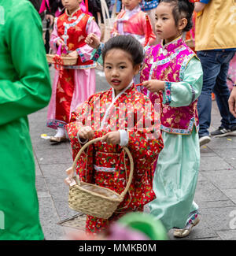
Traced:
<svg viewBox="0 0 236 256">
<path fill-rule="evenodd" d="M 193 27 L 194 2 L 190 2 L 190 0 L 160 0 L 160 2 L 168 2 L 173 6 L 172 14 L 176 26 L 180 19 L 186 18 L 187 24 L 183 32 L 189 32 Z"/>
</svg>

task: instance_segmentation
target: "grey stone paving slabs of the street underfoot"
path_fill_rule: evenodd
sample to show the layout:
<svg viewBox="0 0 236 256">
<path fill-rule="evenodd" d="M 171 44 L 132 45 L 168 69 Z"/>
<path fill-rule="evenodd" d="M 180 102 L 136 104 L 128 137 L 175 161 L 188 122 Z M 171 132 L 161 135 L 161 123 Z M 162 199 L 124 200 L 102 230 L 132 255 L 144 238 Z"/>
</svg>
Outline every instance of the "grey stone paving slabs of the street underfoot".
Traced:
<svg viewBox="0 0 236 256">
<path fill-rule="evenodd" d="M 51 69 L 53 76 L 53 69 Z M 98 91 L 107 85 L 101 72 L 97 71 Z M 29 116 L 31 139 L 35 154 L 36 187 L 39 210 L 46 239 L 65 238 L 68 228 L 58 225 L 77 212 L 68 208 L 68 186 L 64 184 L 65 169 L 72 165 L 72 150 L 69 143 L 51 145 L 41 139 L 46 133 L 46 108 Z M 212 103 L 212 127 L 220 124 L 216 102 Z M 236 239 L 236 137 L 213 138 L 207 147 L 201 147 L 201 169 L 194 201 L 200 207 L 201 222 L 186 239 L 224 240 Z M 84 219 L 81 221 L 84 228 Z M 174 239 L 169 232 L 170 239 Z"/>
</svg>

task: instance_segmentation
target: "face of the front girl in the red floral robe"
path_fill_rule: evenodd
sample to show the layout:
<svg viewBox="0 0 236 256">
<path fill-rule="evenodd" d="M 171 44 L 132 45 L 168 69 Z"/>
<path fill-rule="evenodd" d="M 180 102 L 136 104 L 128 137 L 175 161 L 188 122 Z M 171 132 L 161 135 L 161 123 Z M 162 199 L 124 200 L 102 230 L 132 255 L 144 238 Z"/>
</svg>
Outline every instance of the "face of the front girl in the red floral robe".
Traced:
<svg viewBox="0 0 236 256">
<path fill-rule="evenodd" d="M 105 54 L 105 78 L 118 95 L 138 74 L 139 65 L 133 65 L 131 55 L 124 50 L 112 49 Z"/>
</svg>

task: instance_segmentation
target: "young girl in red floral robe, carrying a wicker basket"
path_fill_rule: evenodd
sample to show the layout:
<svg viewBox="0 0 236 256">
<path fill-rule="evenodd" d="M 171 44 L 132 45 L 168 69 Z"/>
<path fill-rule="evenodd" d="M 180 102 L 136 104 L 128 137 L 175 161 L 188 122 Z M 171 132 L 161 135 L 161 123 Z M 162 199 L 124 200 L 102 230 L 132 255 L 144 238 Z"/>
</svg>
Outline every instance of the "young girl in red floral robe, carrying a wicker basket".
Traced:
<svg viewBox="0 0 236 256">
<path fill-rule="evenodd" d="M 90 96 L 72 113 L 71 122 L 66 126 L 73 158 L 89 139 L 103 137 L 88 147 L 87 153 L 83 151 L 77 163 L 76 173 L 83 181 L 120 194 L 130 172 L 123 146 L 128 147 L 134 160 L 134 175 L 124 201 L 108 220 L 87 216 L 88 233 L 101 232 L 125 213 L 142 211 L 143 206 L 155 198 L 153 162 L 163 148 L 160 113 L 132 82 L 143 57 L 142 45 L 131 35 L 109 39 L 102 58 L 105 78 L 111 88 Z"/>
</svg>

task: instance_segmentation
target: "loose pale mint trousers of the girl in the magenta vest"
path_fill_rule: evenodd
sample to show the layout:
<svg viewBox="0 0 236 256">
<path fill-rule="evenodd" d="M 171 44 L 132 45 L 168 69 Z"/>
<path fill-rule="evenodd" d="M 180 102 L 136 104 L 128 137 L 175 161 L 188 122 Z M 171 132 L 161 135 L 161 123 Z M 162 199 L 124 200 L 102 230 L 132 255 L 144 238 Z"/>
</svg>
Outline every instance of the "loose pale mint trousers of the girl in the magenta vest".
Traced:
<svg viewBox="0 0 236 256">
<path fill-rule="evenodd" d="M 190 135 L 163 132 L 164 148 L 161 150 L 153 179 L 157 196 L 149 202 L 153 216 L 167 230 L 184 228 L 190 212 L 198 209 L 194 202 L 200 166 L 200 147 L 196 129 Z"/>
</svg>

